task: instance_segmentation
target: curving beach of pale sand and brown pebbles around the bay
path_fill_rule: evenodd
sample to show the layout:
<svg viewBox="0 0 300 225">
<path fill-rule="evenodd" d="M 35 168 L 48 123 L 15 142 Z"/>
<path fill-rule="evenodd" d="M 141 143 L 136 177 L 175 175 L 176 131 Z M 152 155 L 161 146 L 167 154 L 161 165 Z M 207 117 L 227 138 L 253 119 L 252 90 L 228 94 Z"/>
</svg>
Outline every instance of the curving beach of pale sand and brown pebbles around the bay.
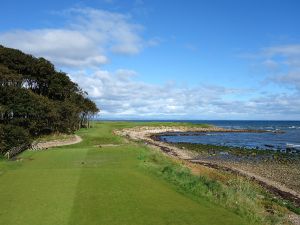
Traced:
<svg viewBox="0 0 300 225">
<path fill-rule="evenodd" d="M 192 151 L 188 147 L 178 147 L 159 140 L 160 134 L 169 132 L 255 132 L 254 130 L 232 130 L 220 127 L 135 127 L 115 131 L 116 134 L 131 140 L 142 141 L 165 154 L 183 160 L 190 164 L 200 164 L 217 170 L 229 171 L 249 177 L 269 191 L 300 205 L 300 164 L 299 161 L 246 161 L 227 160 L 214 157 L 213 154 Z"/>
</svg>

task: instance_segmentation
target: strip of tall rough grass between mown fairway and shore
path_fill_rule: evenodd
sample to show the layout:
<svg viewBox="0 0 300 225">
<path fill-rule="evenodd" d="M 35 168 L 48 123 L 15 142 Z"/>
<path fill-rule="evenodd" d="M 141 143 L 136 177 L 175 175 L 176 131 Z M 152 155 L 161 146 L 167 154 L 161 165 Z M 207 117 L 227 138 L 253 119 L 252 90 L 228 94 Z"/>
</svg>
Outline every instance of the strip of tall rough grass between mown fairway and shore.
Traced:
<svg viewBox="0 0 300 225">
<path fill-rule="evenodd" d="M 205 198 L 223 205 L 247 218 L 250 224 L 284 224 L 287 210 L 273 202 L 249 179 L 227 175 L 221 181 L 207 175 L 193 175 L 189 168 L 159 152 L 144 152 L 140 159 L 148 171 L 169 181 L 179 192 L 191 198 Z"/>
</svg>

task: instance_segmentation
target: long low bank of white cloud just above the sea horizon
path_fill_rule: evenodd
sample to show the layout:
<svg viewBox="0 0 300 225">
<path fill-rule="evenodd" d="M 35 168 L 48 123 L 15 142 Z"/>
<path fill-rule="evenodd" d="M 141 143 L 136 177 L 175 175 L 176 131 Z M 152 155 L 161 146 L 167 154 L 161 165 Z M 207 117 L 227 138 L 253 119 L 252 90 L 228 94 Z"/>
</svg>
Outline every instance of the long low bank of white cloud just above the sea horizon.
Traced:
<svg viewBox="0 0 300 225">
<path fill-rule="evenodd" d="M 279 119 L 284 114 L 286 119 L 299 119 L 297 95 L 266 95 L 242 101 L 237 99 L 245 90 L 213 85 L 151 85 L 135 81 L 134 76 L 134 71 L 97 70 L 89 75 L 75 74 L 72 79 L 90 90 L 90 97 L 105 118 Z"/>
</svg>

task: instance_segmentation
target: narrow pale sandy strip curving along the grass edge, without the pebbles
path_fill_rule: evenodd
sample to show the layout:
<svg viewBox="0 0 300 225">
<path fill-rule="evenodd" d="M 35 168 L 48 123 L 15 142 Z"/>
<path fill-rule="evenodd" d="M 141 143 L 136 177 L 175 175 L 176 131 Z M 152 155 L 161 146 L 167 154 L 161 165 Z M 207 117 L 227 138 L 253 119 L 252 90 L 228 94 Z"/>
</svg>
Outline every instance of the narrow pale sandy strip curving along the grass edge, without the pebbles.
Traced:
<svg viewBox="0 0 300 225">
<path fill-rule="evenodd" d="M 207 167 L 215 168 L 215 169 L 221 169 L 225 171 L 230 171 L 237 173 L 239 175 L 250 177 L 251 179 L 257 181 L 262 186 L 266 187 L 268 190 L 279 194 L 283 198 L 292 200 L 297 205 L 300 205 L 300 194 L 285 185 L 275 182 L 273 180 L 267 179 L 263 176 L 260 176 L 258 174 L 242 170 L 240 168 L 234 167 L 234 166 L 228 166 L 216 162 L 211 161 L 204 161 L 204 160 L 194 160 L 195 153 L 183 149 L 179 149 L 177 147 L 171 146 L 167 143 L 163 143 L 157 140 L 154 140 L 151 138 L 154 134 L 158 133 L 164 133 L 164 132 L 186 132 L 186 131 L 203 131 L 203 132 L 209 132 L 209 131 L 223 131 L 223 128 L 194 128 L 189 129 L 187 127 L 138 127 L 138 128 L 130 128 L 130 129 L 124 129 L 115 131 L 116 134 L 119 134 L 121 136 L 125 136 L 127 138 L 130 138 L 132 140 L 142 140 L 145 143 L 155 146 L 156 148 L 159 148 L 161 151 L 163 151 L 165 154 L 170 155 L 172 157 L 176 157 L 179 159 L 182 159 L 184 161 L 187 161 L 189 163 L 193 164 L 201 164 Z M 226 130 L 229 131 L 229 130 Z M 230 131 L 229 131 L 230 132 Z"/>
</svg>

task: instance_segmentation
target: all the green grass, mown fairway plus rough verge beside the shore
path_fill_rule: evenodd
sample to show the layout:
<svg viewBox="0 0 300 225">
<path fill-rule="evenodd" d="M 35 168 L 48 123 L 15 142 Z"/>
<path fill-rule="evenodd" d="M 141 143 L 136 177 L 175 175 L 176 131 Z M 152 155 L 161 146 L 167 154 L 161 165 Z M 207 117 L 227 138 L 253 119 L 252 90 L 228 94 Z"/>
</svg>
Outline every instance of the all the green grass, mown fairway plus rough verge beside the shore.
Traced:
<svg viewBox="0 0 300 225">
<path fill-rule="evenodd" d="M 25 151 L 14 161 L 0 161 L 0 221 L 288 224 L 286 203 L 251 179 L 191 167 L 144 142 L 114 134 L 145 125 L 168 123 L 97 122 L 75 132 L 81 143 Z"/>
</svg>

